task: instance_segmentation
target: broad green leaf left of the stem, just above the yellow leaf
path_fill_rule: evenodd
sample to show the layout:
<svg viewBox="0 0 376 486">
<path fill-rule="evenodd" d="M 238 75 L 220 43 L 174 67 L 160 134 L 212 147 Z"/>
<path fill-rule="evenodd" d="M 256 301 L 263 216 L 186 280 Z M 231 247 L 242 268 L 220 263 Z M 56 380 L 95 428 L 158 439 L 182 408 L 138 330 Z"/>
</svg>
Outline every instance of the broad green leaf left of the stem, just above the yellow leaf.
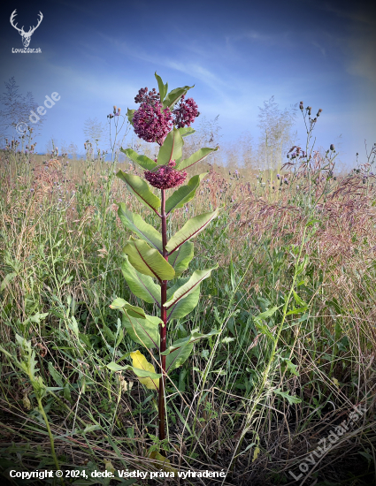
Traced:
<svg viewBox="0 0 376 486">
<path fill-rule="evenodd" d="M 123 324 L 130 338 L 144 347 L 159 349 L 159 324 L 163 321 L 154 315 L 144 314 L 145 317 L 142 318 L 135 317 L 134 314 L 127 310 L 124 310 L 123 314 Z"/>
</svg>

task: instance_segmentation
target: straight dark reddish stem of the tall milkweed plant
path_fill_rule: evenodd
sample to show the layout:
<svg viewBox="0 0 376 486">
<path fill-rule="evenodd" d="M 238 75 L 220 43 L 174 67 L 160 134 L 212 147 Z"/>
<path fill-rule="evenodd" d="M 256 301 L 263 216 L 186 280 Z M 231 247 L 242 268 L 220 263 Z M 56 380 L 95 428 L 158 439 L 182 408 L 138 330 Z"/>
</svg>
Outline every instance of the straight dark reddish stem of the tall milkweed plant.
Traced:
<svg viewBox="0 0 376 486">
<path fill-rule="evenodd" d="M 165 215 L 165 189 L 161 189 L 161 218 L 162 218 L 162 254 L 165 260 L 168 261 L 167 251 L 167 224 Z M 160 325 L 160 352 L 163 353 L 166 347 L 167 336 L 167 310 L 164 307 L 167 300 L 167 280 L 162 280 L 161 285 L 161 319 L 163 324 Z M 158 429 L 159 439 L 165 439 L 165 356 L 161 356 L 162 377 L 159 379 L 158 392 Z"/>
</svg>

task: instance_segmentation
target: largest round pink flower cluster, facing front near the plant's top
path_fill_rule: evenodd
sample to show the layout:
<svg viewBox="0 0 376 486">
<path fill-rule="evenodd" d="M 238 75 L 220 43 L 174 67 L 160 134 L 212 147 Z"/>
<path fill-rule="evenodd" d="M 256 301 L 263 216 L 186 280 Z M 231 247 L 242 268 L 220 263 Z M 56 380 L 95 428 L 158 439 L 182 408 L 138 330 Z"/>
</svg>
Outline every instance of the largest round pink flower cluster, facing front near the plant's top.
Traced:
<svg viewBox="0 0 376 486">
<path fill-rule="evenodd" d="M 168 108 L 163 110 L 162 103 L 142 103 L 134 111 L 134 133 L 145 141 L 156 141 L 162 145 L 167 133 L 173 128 L 173 115 Z"/>
</svg>

